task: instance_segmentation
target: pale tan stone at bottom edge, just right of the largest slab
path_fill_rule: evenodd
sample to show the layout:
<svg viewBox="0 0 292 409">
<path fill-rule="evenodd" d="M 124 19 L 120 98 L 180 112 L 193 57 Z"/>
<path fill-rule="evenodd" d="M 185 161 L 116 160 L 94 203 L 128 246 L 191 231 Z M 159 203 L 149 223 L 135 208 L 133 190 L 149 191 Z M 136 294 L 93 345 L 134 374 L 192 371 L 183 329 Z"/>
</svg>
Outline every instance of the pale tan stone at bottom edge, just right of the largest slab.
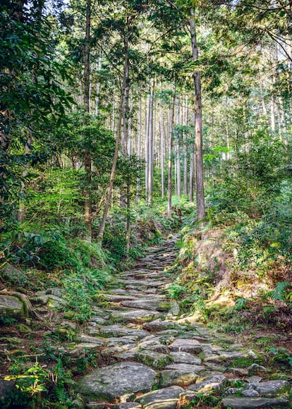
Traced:
<svg viewBox="0 0 292 409">
<path fill-rule="evenodd" d="M 176 409 L 182 392 L 183 388 L 180 386 L 171 386 L 145 393 L 145 395 L 136 398 L 135 401 L 141 403 L 143 409 Z"/>
</svg>

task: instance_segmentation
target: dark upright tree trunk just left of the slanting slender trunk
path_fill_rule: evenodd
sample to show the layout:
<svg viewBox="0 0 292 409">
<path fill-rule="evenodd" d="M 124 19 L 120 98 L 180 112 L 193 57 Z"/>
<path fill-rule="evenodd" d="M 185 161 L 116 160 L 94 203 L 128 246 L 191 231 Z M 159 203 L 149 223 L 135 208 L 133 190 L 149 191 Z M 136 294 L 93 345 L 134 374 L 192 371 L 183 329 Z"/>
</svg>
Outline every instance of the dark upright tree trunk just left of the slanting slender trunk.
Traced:
<svg viewBox="0 0 292 409">
<path fill-rule="evenodd" d="M 84 47 L 84 92 L 83 92 L 83 104 L 87 114 L 90 112 L 90 23 L 91 23 L 91 0 L 87 0 L 86 4 L 86 28 L 85 28 L 85 47 Z M 85 214 L 84 221 L 87 228 L 87 238 L 92 240 L 92 203 L 90 198 L 90 185 L 91 185 L 91 155 L 86 149 L 84 156 L 84 169 L 85 169 Z"/>
</svg>

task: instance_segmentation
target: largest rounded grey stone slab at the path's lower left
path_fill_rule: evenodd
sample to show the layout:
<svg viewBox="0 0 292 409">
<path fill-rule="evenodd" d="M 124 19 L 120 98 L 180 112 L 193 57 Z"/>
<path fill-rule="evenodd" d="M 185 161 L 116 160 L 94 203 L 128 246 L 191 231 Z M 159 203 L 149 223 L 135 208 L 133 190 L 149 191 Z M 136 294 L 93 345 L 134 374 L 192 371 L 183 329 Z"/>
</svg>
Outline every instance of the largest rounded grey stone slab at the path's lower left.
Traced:
<svg viewBox="0 0 292 409">
<path fill-rule="evenodd" d="M 141 393 L 152 389 L 157 373 L 136 362 L 119 362 L 91 372 L 78 382 L 78 392 L 95 398 L 114 401 L 126 393 Z"/>
</svg>

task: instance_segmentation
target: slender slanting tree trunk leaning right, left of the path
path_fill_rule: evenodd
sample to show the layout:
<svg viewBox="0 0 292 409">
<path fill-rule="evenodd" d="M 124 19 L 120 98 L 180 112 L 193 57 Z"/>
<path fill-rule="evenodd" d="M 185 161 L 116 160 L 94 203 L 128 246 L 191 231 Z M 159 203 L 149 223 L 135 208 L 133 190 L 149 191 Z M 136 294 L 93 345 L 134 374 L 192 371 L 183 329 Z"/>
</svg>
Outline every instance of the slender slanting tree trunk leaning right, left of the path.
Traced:
<svg viewBox="0 0 292 409">
<path fill-rule="evenodd" d="M 124 106 L 124 97 L 125 97 L 125 92 L 126 92 L 126 87 L 128 85 L 128 75 L 129 75 L 129 59 L 128 59 L 128 54 L 129 54 L 129 44 L 128 44 L 128 35 L 126 36 L 126 39 L 124 41 L 125 44 L 125 59 L 124 59 L 124 64 L 123 64 L 123 83 L 121 87 L 121 96 L 120 96 L 120 103 L 119 103 L 119 109 L 118 109 L 118 126 L 116 130 L 116 145 L 114 148 L 114 157 L 113 157 L 113 163 L 111 165 L 111 176 L 109 178 L 109 188 L 107 190 L 107 199 L 104 204 L 104 213 L 102 214 L 102 221 L 99 226 L 99 234 L 97 240 L 101 243 L 102 238 L 104 237 L 104 228 L 106 225 L 107 221 L 107 214 L 109 212 L 109 206 L 111 204 L 111 194 L 114 188 L 114 176 L 116 173 L 116 162 L 118 160 L 118 145 L 120 144 L 121 140 L 121 133 L 122 133 L 122 120 L 123 120 L 123 106 Z"/>
</svg>

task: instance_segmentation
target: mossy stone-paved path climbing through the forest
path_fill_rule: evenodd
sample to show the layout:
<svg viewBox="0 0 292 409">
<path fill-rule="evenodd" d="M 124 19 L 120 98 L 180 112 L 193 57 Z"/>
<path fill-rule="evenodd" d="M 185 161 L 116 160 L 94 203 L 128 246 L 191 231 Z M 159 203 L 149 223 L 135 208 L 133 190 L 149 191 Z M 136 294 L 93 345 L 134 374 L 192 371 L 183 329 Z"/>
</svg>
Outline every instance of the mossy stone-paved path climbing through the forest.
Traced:
<svg viewBox="0 0 292 409">
<path fill-rule="evenodd" d="M 166 291 L 175 241 L 150 249 L 100 295 L 92 322 L 71 351 L 99 350 L 107 362 L 78 382 L 86 408 L 115 403 L 117 409 L 171 409 L 200 402 L 204 408 L 291 408 L 292 377 L 253 363 L 260 355 L 233 338 L 180 319 Z"/>
</svg>

